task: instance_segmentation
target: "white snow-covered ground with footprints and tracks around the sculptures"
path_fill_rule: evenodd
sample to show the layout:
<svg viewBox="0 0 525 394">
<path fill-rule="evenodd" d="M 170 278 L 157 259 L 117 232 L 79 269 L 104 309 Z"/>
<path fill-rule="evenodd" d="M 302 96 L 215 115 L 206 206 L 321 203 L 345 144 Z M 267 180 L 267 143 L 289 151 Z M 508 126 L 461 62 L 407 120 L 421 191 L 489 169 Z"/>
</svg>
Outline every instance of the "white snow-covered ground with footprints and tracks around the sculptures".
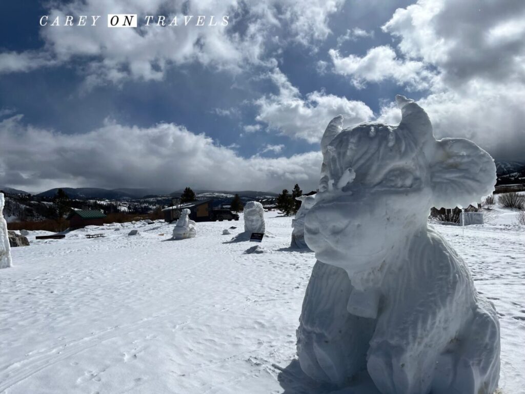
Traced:
<svg viewBox="0 0 525 394">
<path fill-rule="evenodd" d="M 290 250 L 291 218 L 266 213 L 274 236 L 261 254 L 228 243 L 242 215 L 197 223 L 182 241 L 170 240 L 173 225 L 31 233 L 31 246 L 13 248 L 14 267 L 0 272 L 0 393 L 331 392 L 293 361 L 315 258 Z M 502 393 L 525 393 L 525 227 L 436 227 L 498 310 Z"/>
</svg>

